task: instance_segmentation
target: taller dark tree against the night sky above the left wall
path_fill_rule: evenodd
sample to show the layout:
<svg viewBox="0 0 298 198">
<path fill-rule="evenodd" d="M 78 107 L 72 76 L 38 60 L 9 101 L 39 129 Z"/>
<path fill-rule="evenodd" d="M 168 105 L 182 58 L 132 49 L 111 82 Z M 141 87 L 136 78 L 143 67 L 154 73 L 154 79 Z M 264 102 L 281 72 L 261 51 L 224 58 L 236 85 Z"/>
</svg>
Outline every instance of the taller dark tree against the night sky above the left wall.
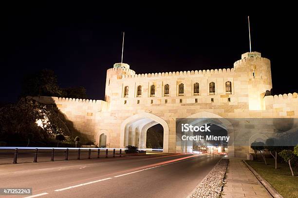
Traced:
<svg viewBox="0 0 298 198">
<path fill-rule="evenodd" d="M 23 79 L 21 96 L 62 96 L 57 76 L 53 70 L 43 69 Z"/>
</svg>

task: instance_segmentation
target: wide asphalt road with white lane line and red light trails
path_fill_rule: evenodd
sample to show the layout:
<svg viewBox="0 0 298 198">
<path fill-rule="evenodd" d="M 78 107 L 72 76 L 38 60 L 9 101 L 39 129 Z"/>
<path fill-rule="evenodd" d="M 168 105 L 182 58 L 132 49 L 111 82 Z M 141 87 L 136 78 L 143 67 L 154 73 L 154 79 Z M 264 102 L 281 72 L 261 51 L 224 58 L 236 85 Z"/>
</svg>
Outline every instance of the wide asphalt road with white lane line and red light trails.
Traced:
<svg viewBox="0 0 298 198">
<path fill-rule="evenodd" d="M 32 187 L 38 198 L 186 198 L 221 157 L 162 155 L 0 165 L 0 188 Z"/>
</svg>

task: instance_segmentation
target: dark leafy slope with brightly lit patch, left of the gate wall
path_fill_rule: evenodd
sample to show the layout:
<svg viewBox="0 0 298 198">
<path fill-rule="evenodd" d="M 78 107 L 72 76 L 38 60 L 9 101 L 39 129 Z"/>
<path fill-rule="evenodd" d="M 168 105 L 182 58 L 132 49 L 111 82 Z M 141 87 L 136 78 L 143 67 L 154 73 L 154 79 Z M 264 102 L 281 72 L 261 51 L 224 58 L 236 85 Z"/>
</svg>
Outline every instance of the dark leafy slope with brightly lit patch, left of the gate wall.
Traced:
<svg viewBox="0 0 298 198">
<path fill-rule="evenodd" d="M 51 144 L 59 133 L 64 134 L 67 140 L 72 136 L 64 118 L 51 105 L 21 98 L 16 104 L 0 108 L 0 140 L 8 145 L 26 147 Z"/>
</svg>

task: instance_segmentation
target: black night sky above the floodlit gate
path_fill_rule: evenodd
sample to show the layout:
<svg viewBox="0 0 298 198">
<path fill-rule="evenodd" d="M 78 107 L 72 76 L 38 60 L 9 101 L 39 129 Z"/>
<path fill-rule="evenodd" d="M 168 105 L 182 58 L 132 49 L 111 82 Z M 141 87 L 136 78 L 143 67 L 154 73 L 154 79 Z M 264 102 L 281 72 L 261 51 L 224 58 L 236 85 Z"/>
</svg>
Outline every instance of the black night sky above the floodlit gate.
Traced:
<svg viewBox="0 0 298 198">
<path fill-rule="evenodd" d="M 247 15 L 252 50 L 271 60 L 274 94 L 298 91 L 293 12 L 92 7 L 4 8 L 0 102 L 16 101 L 23 76 L 43 68 L 55 71 L 61 87 L 84 86 L 89 99 L 104 99 L 106 70 L 121 62 L 123 31 L 124 62 L 136 73 L 232 68 L 249 51 Z"/>
</svg>

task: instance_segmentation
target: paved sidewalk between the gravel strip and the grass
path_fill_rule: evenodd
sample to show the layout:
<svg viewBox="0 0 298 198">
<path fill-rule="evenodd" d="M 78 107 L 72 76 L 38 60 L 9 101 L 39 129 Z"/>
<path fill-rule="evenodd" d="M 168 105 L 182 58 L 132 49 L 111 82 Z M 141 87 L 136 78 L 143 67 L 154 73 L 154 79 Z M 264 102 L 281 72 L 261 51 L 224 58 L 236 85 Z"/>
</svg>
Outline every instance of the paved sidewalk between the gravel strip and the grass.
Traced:
<svg viewBox="0 0 298 198">
<path fill-rule="evenodd" d="M 261 182 L 239 159 L 229 159 L 223 198 L 272 198 Z"/>
</svg>

